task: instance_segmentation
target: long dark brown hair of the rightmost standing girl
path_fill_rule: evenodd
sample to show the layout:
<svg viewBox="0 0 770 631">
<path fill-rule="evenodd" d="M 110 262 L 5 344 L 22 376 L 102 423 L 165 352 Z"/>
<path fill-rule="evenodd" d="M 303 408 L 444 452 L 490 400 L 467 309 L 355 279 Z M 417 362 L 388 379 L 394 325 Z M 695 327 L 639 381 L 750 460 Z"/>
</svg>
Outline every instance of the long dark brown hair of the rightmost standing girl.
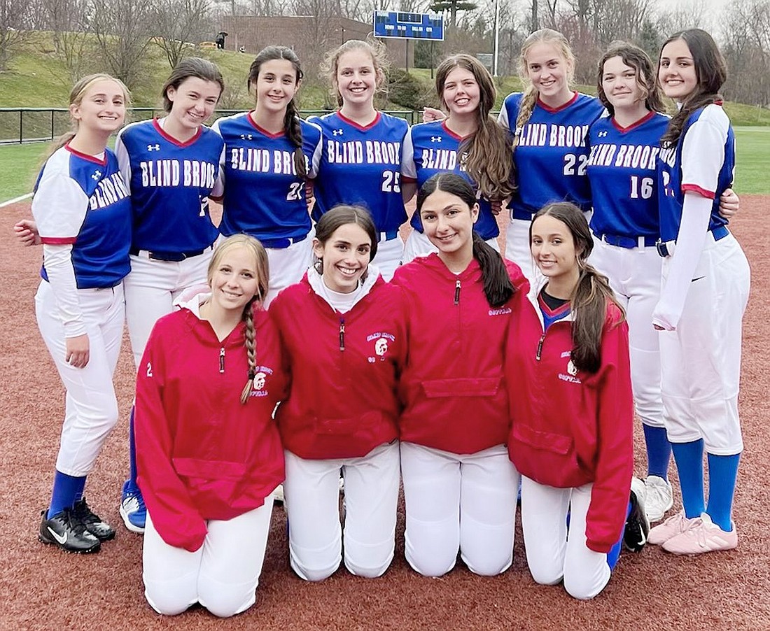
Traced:
<svg viewBox="0 0 770 631">
<path fill-rule="evenodd" d="M 719 90 L 727 81 L 725 58 L 722 57 L 719 47 L 711 35 L 702 28 L 688 28 L 686 31 L 680 31 L 671 35 L 670 38 L 663 42 L 661 54 L 667 44 L 677 39 L 684 40 L 690 49 L 698 84 L 695 86 L 692 94 L 685 98 L 685 102 L 681 104 L 679 111 L 671 119 L 671 122 L 668 123 L 668 129 L 666 129 L 665 134 L 661 138 L 661 145 L 664 147 L 670 147 L 678 142 L 681 130 L 684 128 L 685 122 L 687 122 L 692 112 L 706 105 L 711 105 L 715 101 L 722 100 Z M 658 57 L 658 73 L 660 71 L 661 60 Z"/>
</svg>

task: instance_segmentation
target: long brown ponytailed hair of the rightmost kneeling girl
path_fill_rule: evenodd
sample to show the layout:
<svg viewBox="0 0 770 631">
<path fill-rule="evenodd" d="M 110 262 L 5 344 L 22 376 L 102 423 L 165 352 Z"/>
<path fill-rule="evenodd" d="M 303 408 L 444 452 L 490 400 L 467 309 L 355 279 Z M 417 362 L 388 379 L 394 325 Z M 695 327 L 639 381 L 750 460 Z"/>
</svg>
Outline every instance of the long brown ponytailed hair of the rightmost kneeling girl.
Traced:
<svg viewBox="0 0 770 631">
<path fill-rule="evenodd" d="M 534 222 L 544 215 L 558 219 L 567 226 L 577 256 L 577 285 L 570 296 L 573 313 L 572 363 L 579 370 L 597 372 L 601 366 L 601 333 L 607 320 L 607 302 L 613 302 L 620 309 L 620 322 L 625 319 L 625 312 L 615 298 L 607 276 L 588 264 L 588 256 L 594 249 L 594 239 L 581 209 L 571 202 L 555 202 L 540 209 L 530 224 L 530 242 Z"/>
</svg>

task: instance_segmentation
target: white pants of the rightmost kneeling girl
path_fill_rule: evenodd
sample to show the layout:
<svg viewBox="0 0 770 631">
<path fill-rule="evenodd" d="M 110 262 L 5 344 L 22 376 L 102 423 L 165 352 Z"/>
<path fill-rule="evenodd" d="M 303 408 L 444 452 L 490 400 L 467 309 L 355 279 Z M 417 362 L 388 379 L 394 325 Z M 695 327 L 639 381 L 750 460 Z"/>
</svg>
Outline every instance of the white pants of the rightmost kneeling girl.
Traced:
<svg viewBox="0 0 770 631">
<path fill-rule="evenodd" d="M 586 546 L 585 519 L 593 486 L 556 489 L 521 476 L 521 526 L 532 578 L 541 585 L 557 585 L 563 579 L 567 593 L 583 600 L 597 596 L 612 573 L 607 555 Z"/>
</svg>

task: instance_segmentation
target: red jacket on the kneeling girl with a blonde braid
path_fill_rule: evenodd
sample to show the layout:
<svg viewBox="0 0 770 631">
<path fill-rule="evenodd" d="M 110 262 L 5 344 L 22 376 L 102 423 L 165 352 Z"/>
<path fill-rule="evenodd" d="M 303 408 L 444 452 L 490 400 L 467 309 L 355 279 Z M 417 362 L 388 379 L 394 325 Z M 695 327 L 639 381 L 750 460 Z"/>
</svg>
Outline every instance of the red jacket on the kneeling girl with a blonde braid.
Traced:
<svg viewBox="0 0 770 631">
<path fill-rule="evenodd" d="M 243 323 L 222 342 L 199 319 L 196 296 L 152 329 L 136 379 L 139 487 L 163 541 L 194 552 L 206 520 L 262 506 L 283 482 L 283 449 L 272 419 L 285 396 L 280 341 L 255 310 L 257 373 L 248 376 Z M 193 310 L 191 310 L 191 308 Z"/>
</svg>

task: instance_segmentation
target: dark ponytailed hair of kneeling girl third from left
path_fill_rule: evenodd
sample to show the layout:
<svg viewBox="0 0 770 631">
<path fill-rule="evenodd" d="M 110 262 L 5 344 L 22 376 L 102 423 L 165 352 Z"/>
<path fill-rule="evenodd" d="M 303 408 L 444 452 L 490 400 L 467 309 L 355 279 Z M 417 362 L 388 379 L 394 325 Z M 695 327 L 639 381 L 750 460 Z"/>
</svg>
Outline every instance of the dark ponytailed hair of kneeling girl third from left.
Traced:
<svg viewBox="0 0 770 631">
<path fill-rule="evenodd" d="M 457 173 L 437 173 L 428 179 L 417 192 L 417 212 L 423 208 L 425 200 L 436 191 L 443 191 L 460 198 L 468 209 L 477 204 L 476 193 L 467 179 Z M 511 276 L 503 262 L 500 252 L 481 239 L 473 232 L 474 259 L 481 269 L 481 279 L 484 281 L 484 295 L 491 307 L 500 307 L 511 299 L 516 288 L 511 282 Z"/>
</svg>

